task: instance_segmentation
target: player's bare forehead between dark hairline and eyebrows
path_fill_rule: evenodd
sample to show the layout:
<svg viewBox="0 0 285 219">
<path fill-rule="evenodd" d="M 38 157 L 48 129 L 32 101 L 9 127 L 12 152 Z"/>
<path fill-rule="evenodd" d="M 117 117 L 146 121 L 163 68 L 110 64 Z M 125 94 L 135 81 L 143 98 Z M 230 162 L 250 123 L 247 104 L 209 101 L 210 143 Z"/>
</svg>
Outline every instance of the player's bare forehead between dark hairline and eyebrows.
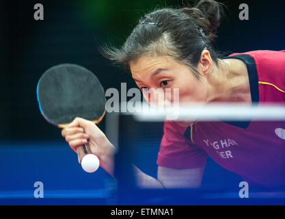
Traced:
<svg viewBox="0 0 285 219">
<path fill-rule="evenodd" d="M 157 68 L 175 68 L 178 63 L 170 56 L 141 56 L 130 62 L 133 77 L 150 74 Z"/>
</svg>

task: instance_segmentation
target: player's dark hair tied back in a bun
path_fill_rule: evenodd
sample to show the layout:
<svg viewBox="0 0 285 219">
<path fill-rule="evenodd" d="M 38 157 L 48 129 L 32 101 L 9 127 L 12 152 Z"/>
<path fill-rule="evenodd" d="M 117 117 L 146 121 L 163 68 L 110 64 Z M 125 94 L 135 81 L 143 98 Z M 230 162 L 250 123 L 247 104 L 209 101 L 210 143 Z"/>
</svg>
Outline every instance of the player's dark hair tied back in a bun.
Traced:
<svg viewBox="0 0 285 219">
<path fill-rule="evenodd" d="M 195 67 L 204 49 L 208 49 L 216 64 L 218 61 L 212 42 L 221 19 L 221 5 L 217 1 L 201 0 L 195 7 L 154 10 L 139 19 L 120 49 L 105 45 L 100 53 L 126 70 L 129 62 L 141 55 L 172 55 L 191 67 L 199 79 Z"/>
</svg>

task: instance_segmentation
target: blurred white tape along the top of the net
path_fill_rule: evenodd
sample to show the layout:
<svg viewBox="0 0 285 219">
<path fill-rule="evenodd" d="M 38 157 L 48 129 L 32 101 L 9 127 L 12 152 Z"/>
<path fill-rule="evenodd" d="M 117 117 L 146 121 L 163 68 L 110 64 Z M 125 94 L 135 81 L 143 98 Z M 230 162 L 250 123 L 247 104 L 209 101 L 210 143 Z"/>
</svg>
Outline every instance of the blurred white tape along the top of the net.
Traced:
<svg viewBox="0 0 285 219">
<path fill-rule="evenodd" d="M 167 120 L 284 120 L 285 104 L 246 105 L 242 103 L 208 103 L 180 105 L 179 107 L 150 107 L 142 105 L 131 114 L 139 121 Z"/>
</svg>

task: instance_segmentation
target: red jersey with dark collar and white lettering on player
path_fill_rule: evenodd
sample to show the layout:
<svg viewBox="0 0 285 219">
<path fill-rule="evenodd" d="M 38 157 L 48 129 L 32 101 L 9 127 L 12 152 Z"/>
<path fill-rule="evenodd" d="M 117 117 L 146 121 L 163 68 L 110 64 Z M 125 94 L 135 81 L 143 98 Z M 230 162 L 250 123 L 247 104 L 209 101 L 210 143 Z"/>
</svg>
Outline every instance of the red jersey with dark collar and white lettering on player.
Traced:
<svg viewBox="0 0 285 219">
<path fill-rule="evenodd" d="M 224 58 L 245 62 L 254 103 L 285 102 L 285 50 L 233 53 Z M 203 167 L 207 156 L 249 185 L 285 185 L 285 122 L 205 121 L 180 127 L 165 121 L 159 166 Z"/>
</svg>

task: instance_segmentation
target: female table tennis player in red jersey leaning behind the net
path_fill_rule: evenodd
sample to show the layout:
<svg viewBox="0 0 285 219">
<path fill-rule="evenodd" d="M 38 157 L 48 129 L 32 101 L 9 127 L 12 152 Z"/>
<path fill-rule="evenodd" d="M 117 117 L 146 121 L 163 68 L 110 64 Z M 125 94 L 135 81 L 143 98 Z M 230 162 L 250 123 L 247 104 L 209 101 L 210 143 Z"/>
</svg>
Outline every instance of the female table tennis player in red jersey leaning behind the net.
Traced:
<svg viewBox="0 0 285 219">
<path fill-rule="evenodd" d="M 105 48 L 103 55 L 128 68 L 142 92 L 179 88 L 181 103 L 284 102 L 285 51 L 218 57 L 212 42 L 220 12 L 221 4 L 210 0 L 155 10 L 140 19 L 122 48 Z M 134 167 L 137 179 L 142 186 L 195 188 L 210 156 L 249 186 L 285 186 L 284 131 L 281 122 L 165 121 L 157 179 Z M 74 151 L 89 140 L 100 165 L 113 175 L 114 146 L 94 123 L 77 118 L 62 136 Z"/>
</svg>

